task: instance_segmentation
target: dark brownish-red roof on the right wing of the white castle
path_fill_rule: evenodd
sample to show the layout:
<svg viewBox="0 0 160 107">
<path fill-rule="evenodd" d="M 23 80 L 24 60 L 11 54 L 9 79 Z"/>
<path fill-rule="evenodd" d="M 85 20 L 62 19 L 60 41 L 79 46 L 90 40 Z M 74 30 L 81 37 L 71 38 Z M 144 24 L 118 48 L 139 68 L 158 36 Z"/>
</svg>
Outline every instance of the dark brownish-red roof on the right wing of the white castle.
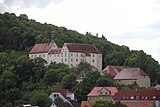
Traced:
<svg viewBox="0 0 160 107">
<path fill-rule="evenodd" d="M 90 53 L 101 53 L 93 44 L 66 43 L 65 45 L 70 52 L 82 52 L 86 56 L 89 56 Z"/>
</svg>

